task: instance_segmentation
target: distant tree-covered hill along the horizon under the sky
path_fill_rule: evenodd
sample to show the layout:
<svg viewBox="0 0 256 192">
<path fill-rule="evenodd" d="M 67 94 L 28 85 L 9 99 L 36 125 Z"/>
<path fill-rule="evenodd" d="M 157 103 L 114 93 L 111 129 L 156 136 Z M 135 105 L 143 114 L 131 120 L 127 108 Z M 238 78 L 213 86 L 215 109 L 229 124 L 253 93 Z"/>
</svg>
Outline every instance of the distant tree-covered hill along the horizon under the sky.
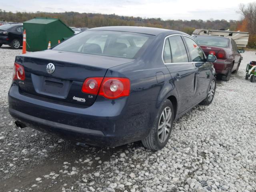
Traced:
<svg viewBox="0 0 256 192">
<path fill-rule="evenodd" d="M 74 27 L 100 27 L 100 26 L 147 26 L 172 30 L 179 30 L 192 34 L 196 28 L 204 29 L 230 29 L 236 30 L 238 21 L 235 20 L 162 20 L 161 18 L 141 18 L 130 16 L 118 16 L 115 14 L 94 13 L 48 13 L 48 12 L 6 12 L 0 9 L 0 21 L 24 22 L 34 17 L 59 18 L 68 26 Z M 203 18 L 202 18 L 203 19 Z"/>
</svg>

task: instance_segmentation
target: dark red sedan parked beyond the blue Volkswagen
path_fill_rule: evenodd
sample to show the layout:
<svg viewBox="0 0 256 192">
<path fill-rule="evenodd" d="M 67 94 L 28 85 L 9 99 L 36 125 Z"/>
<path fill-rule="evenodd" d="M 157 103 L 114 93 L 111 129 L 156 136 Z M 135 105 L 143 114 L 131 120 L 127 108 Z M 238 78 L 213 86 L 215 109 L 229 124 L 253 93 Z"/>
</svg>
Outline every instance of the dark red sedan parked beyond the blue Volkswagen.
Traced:
<svg viewBox="0 0 256 192">
<path fill-rule="evenodd" d="M 232 38 L 221 36 L 196 35 L 194 39 L 201 46 L 206 55 L 213 54 L 217 57 L 214 68 L 217 76 L 228 81 L 231 73 L 236 73 L 243 59 L 240 53 L 243 49 L 238 49 L 236 42 Z"/>
</svg>

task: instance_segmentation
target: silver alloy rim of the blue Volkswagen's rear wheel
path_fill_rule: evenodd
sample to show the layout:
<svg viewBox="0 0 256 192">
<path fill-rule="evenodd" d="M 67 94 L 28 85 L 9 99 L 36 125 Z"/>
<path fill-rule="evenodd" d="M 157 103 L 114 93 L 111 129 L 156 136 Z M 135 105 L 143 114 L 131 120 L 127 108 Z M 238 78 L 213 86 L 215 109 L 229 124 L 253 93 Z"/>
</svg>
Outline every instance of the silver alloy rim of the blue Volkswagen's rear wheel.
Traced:
<svg viewBox="0 0 256 192">
<path fill-rule="evenodd" d="M 170 107 L 164 108 L 158 124 L 158 139 L 160 143 L 165 142 L 166 139 L 168 138 L 168 135 L 171 130 L 171 124 L 170 124 L 171 117 L 172 117 L 171 108 Z"/>
</svg>

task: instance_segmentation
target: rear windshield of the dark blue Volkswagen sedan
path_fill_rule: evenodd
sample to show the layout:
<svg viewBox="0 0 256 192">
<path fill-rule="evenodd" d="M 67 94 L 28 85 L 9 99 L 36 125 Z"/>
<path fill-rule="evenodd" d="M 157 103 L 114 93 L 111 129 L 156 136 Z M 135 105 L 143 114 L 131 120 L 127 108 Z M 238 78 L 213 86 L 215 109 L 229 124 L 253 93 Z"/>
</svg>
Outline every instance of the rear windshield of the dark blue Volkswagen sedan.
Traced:
<svg viewBox="0 0 256 192">
<path fill-rule="evenodd" d="M 122 58 L 136 58 L 140 50 L 146 47 L 153 37 L 152 35 L 139 33 L 90 30 L 69 38 L 53 49 Z"/>
</svg>

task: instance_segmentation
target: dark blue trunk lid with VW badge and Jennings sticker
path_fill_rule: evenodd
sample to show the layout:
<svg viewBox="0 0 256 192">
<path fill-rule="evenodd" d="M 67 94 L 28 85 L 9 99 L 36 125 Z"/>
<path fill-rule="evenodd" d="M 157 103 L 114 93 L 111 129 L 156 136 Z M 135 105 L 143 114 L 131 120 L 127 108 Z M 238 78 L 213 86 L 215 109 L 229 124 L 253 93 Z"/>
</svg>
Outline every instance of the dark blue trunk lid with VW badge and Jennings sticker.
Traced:
<svg viewBox="0 0 256 192">
<path fill-rule="evenodd" d="M 46 50 L 16 57 L 25 70 L 24 82 L 19 81 L 21 94 L 58 104 L 91 106 L 96 95 L 83 93 L 88 77 L 104 77 L 108 68 L 132 62 L 133 59 L 98 56 L 57 50 Z M 55 67 L 49 74 L 46 66 Z"/>
</svg>

